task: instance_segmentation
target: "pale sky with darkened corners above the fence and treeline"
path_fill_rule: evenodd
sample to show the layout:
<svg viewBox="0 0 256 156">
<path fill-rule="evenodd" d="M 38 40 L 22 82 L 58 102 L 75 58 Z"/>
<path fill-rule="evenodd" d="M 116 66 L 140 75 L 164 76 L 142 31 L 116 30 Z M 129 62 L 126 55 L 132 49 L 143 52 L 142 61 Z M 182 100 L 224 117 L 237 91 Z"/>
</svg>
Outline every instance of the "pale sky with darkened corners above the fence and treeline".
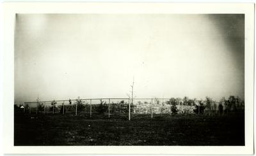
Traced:
<svg viewBox="0 0 256 156">
<path fill-rule="evenodd" d="M 244 99 L 242 14 L 17 14 L 15 104 Z"/>
</svg>

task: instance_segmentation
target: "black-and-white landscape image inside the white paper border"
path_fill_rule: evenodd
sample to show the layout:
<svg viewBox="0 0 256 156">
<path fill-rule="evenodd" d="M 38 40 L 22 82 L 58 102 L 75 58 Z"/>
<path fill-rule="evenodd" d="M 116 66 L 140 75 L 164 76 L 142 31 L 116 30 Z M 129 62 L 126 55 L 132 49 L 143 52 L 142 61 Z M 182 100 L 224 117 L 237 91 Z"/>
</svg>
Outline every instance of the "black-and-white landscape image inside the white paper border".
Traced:
<svg viewBox="0 0 256 156">
<path fill-rule="evenodd" d="M 245 13 L 14 20 L 14 147 L 246 145 Z"/>
</svg>

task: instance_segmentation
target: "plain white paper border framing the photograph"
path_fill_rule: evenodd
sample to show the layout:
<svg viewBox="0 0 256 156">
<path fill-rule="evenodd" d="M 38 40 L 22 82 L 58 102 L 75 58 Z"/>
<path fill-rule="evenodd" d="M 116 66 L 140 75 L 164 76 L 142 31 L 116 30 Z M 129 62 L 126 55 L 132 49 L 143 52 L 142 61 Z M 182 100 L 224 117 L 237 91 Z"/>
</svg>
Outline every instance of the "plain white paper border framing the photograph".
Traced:
<svg viewBox="0 0 256 156">
<path fill-rule="evenodd" d="M 253 34 L 252 3 L 3 3 L 4 153 L 88 154 L 252 154 Z M 13 146 L 15 13 L 244 13 L 245 14 L 245 146 Z"/>
</svg>

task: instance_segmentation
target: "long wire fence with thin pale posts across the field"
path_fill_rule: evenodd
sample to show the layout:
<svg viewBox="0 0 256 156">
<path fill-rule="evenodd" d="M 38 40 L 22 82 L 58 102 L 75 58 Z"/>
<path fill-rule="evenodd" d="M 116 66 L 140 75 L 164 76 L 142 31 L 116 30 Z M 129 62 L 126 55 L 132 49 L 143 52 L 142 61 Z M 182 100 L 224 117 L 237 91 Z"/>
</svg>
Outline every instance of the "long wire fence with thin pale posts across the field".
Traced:
<svg viewBox="0 0 256 156">
<path fill-rule="evenodd" d="M 205 101 L 201 101 L 205 103 Z M 219 104 L 214 102 L 214 104 Z M 175 102 L 175 113 L 200 113 L 199 101 L 195 101 L 193 104 L 184 104 L 182 101 Z M 24 113 L 36 113 L 36 114 L 49 114 L 49 113 L 61 113 L 73 114 L 73 115 L 87 115 L 88 117 L 95 117 L 99 114 L 104 117 L 125 117 L 128 120 L 136 118 L 140 115 L 148 115 L 148 117 L 156 117 L 162 114 L 173 113 L 172 104 L 170 98 L 100 98 L 100 99 L 68 99 L 58 101 L 37 101 L 27 102 L 24 106 Z M 197 108 L 196 108 L 197 107 Z M 214 110 L 207 110 L 217 112 Z"/>
</svg>

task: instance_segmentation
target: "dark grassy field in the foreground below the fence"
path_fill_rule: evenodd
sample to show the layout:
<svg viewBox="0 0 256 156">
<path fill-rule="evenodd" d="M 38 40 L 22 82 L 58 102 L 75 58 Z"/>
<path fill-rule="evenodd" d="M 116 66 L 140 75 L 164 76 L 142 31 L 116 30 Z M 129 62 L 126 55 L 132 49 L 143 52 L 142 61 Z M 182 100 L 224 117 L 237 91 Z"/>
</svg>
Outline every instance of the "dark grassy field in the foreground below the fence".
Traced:
<svg viewBox="0 0 256 156">
<path fill-rule="evenodd" d="M 150 118 L 15 113 L 14 144 L 54 145 L 244 145 L 244 115 L 162 115 Z"/>
</svg>

